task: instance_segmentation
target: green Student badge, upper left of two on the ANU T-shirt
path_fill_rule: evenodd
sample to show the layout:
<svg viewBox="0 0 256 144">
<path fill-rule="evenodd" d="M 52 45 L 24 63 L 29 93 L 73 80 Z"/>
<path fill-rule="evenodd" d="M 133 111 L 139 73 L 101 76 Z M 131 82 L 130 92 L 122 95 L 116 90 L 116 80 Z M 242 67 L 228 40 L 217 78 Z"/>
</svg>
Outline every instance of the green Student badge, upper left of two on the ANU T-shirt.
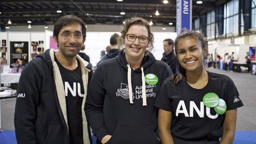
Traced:
<svg viewBox="0 0 256 144">
<path fill-rule="evenodd" d="M 216 93 L 206 93 L 203 97 L 203 102 L 208 108 L 213 108 L 219 103 L 219 97 Z"/>
</svg>

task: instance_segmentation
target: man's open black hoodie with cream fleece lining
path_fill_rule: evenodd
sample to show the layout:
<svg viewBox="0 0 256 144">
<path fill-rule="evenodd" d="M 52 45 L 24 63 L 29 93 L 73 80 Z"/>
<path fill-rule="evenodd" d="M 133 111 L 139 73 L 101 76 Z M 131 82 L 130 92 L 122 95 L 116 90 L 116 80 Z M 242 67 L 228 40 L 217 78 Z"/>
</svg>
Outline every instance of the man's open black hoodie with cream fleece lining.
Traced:
<svg viewBox="0 0 256 144">
<path fill-rule="evenodd" d="M 81 66 L 83 86 L 86 91 L 87 81 L 90 81 L 92 76 L 92 68 L 81 57 L 77 56 L 77 60 Z M 58 65 L 52 61 L 54 61 L 54 52 L 48 49 L 36 56 L 22 70 L 14 115 L 18 144 L 69 144 L 70 142 L 65 90 Z M 86 127 L 86 118 L 83 115 L 84 144 L 91 141 Z"/>
</svg>

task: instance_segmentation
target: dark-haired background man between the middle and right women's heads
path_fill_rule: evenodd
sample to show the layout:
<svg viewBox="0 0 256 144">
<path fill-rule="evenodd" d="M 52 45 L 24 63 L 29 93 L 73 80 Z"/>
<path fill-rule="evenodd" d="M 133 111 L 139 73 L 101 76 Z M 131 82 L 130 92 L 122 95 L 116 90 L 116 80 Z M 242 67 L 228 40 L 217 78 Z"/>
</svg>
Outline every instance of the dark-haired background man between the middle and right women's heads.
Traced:
<svg viewBox="0 0 256 144">
<path fill-rule="evenodd" d="M 176 55 L 173 51 L 173 40 L 171 38 L 166 38 L 163 40 L 163 46 L 164 46 L 164 53 L 163 58 L 161 58 L 161 61 L 164 61 L 169 65 L 169 67 L 172 69 L 173 74 L 176 74 Z"/>
</svg>

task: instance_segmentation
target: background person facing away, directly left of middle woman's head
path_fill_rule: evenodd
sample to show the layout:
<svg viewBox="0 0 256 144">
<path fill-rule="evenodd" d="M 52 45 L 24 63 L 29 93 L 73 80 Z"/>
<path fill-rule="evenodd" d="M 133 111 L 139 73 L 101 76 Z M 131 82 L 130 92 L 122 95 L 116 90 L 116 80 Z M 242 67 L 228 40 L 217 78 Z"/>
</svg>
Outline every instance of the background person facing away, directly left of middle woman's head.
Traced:
<svg viewBox="0 0 256 144">
<path fill-rule="evenodd" d="M 111 35 L 110 37 L 110 49 L 107 52 L 107 54 L 105 54 L 104 56 L 102 56 L 102 58 L 100 58 L 100 61 L 104 61 L 104 60 L 108 60 L 111 58 L 115 58 L 115 56 L 118 55 L 119 51 L 120 51 L 120 44 L 118 44 L 120 39 L 120 35 L 118 35 L 118 33 L 114 33 L 113 35 Z M 99 63 L 97 65 L 99 65 Z"/>
</svg>

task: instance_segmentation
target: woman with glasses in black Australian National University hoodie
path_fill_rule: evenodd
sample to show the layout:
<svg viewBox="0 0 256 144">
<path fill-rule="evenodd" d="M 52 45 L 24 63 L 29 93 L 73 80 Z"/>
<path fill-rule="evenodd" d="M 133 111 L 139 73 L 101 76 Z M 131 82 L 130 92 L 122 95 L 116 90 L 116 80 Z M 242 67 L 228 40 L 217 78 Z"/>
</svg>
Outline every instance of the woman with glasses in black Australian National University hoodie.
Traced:
<svg viewBox="0 0 256 144">
<path fill-rule="evenodd" d="M 124 49 L 102 61 L 89 84 L 85 112 L 97 143 L 157 144 L 154 103 L 161 84 L 172 72 L 148 51 L 153 34 L 145 19 L 125 20 Z"/>
</svg>

